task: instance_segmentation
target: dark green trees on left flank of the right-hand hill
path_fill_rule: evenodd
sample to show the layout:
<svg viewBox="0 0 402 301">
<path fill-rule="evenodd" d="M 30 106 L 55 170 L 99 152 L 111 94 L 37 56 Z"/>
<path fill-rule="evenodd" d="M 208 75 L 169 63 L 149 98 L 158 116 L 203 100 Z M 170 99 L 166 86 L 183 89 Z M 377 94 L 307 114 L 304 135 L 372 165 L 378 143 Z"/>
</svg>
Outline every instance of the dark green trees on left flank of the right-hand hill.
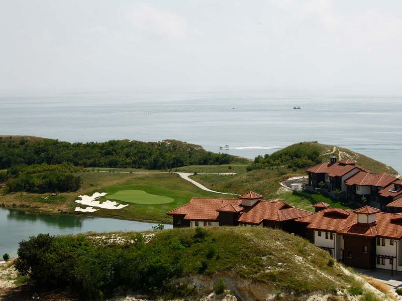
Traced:
<svg viewBox="0 0 402 301">
<path fill-rule="evenodd" d="M 320 149 L 311 143 L 297 143 L 280 149 L 272 155 L 258 156 L 247 170 L 262 169 L 273 166 L 306 169 L 321 163 Z"/>
</svg>

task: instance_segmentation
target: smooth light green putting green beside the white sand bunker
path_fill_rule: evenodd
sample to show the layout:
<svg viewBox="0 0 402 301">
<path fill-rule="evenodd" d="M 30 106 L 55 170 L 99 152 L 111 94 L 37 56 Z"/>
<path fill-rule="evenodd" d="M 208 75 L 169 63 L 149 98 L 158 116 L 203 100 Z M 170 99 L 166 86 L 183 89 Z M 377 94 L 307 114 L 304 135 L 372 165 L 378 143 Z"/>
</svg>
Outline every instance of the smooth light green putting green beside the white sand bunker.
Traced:
<svg viewBox="0 0 402 301">
<path fill-rule="evenodd" d="M 149 194 L 143 190 L 120 190 L 106 198 L 142 205 L 167 204 L 174 201 L 172 198 Z"/>
</svg>

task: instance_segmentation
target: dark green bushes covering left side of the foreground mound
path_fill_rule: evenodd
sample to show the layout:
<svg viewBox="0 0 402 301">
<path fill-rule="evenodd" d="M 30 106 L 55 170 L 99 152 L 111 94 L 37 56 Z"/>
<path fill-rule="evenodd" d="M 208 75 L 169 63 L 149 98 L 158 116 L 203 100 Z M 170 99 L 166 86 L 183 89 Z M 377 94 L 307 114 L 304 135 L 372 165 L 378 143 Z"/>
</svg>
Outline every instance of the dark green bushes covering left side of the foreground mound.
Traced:
<svg viewBox="0 0 402 301">
<path fill-rule="evenodd" d="M 39 234 L 20 242 L 15 267 L 40 288 L 69 287 L 86 300 L 103 299 L 116 288 L 166 293 L 174 285 L 169 280 L 183 273 L 188 258 L 184 256 L 185 249 L 213 242 L 201 228 L 181 240 L 170 234 L 164 236 L 145 243 L 143 234 L 138 233 L 133 237 L 134 243 L 122 246 L 96 244 L 83 235 Z M 177 293 L 177 286 L 174 288 Z"/>
</svg>

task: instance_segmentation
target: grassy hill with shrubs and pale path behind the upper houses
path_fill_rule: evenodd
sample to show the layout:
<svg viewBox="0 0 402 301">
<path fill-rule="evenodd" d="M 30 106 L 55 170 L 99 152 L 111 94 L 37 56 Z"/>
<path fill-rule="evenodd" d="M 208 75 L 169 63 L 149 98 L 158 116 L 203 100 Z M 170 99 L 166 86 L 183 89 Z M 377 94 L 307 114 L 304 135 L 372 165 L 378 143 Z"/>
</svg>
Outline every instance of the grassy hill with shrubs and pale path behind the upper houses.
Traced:
<svg viewBox="0 0 402 301">
<path fill-rule="evenodd" d="M 293 176 L 307 176 L 306 169 L 316 164 L 328 162 L 331 156 L 338 160 L 351 159 L 373 173 L 385 172 L 393 176 L 398 173 L 389 166 L 375 161 L 364 155 L 352 152 L 350 149 L 320 144 L 317 142 L 300 142 L 283 149 L 277 150 L 271 155 L 258 156 L 254 162 L 247 166 L 247 171 L 242 168 L 233 169 L 237 175 L 195 175 L 192 179 L 208 188 L 231 193 L 242 194 L 247 191 L 256 191 L 266 199 L 285 197 L 290 204 L 302 204 L 302 208 L 311 209 L 314 204 L 310 198 L 290 197 L 290 193 L 277 195 L 279 183 Z M 197 170 L 202 170 L 198 168 Z M 293 202 L 291 202 L 293 201 Z M 327 202 L 327 201 L 326 201 Z"/>
</svg>

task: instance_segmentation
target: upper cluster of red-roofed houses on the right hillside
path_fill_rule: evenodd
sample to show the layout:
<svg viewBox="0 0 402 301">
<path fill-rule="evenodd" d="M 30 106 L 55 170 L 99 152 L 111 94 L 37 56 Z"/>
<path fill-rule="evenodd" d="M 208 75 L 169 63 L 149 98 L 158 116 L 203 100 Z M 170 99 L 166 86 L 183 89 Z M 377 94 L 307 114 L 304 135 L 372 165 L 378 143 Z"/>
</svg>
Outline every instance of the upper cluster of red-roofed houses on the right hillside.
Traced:
<svg viewBox="0 0 402 301">
<path fill-rule="evenodd" d="M 391 175 L 373 175 L 354 161 L 337 162 L 336 157 L 309 168 L 307 172 L 306 190 L 324 191 L 333 198 L 338 191 L 349 202 L 360 203 L 365 199 L 371 207 L 381 211 L 402 212 L 402 180 Z"/>
</svg>

